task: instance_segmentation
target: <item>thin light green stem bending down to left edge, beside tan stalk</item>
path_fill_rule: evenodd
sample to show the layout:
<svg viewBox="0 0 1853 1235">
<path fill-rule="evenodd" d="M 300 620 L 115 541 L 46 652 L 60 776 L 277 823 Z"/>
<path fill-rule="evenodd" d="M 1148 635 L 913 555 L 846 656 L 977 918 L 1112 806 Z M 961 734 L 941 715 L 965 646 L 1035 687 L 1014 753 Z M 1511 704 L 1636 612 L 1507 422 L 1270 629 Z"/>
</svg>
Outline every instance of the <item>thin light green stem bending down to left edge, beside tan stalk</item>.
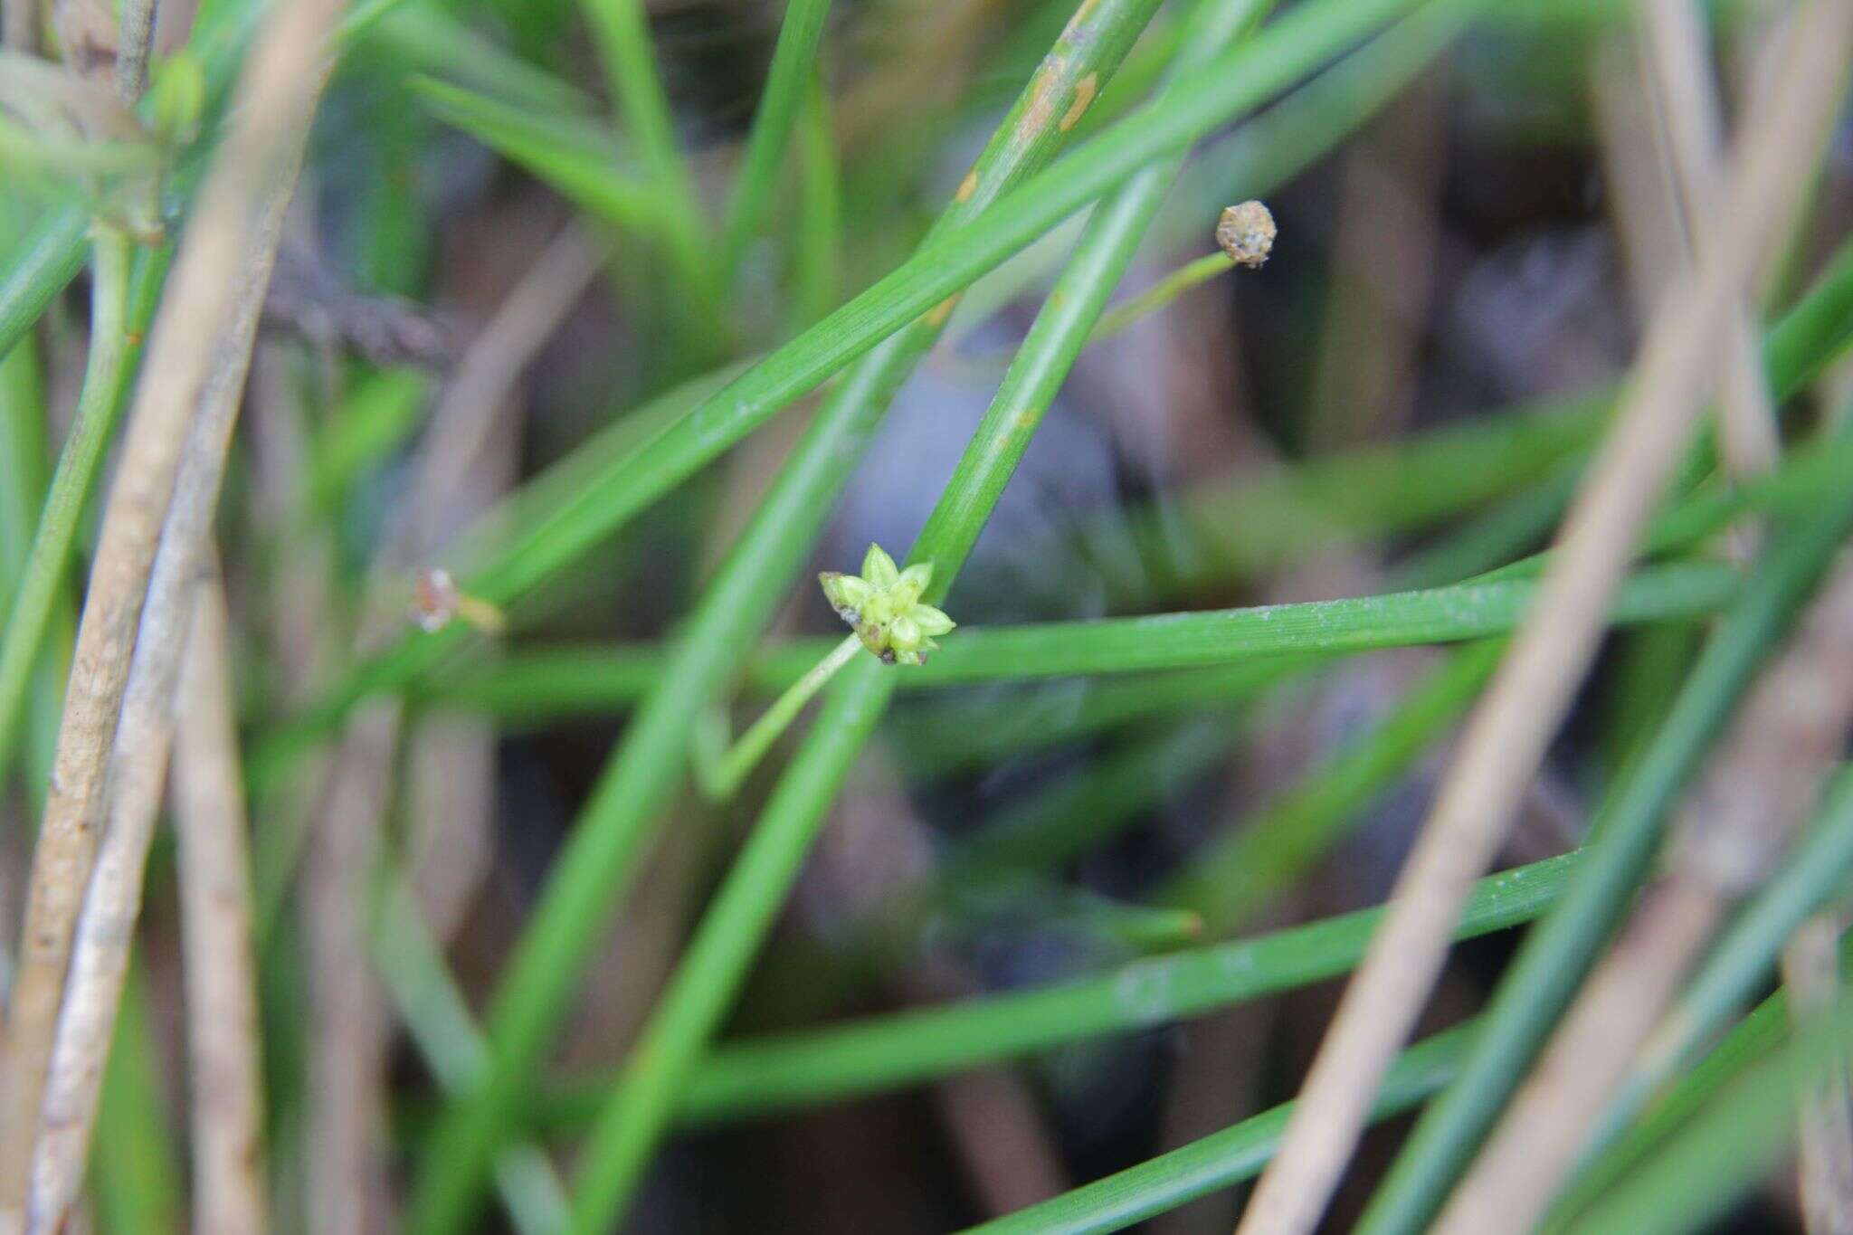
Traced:
<svg viewBox="0 0 1853 1235">
<path fill-rule="evenodd" d="M 128 381 L 128 270 L 130 239 L 98 224 L 93 230 L 91 348 L 70 435 L 57 457 L 52 487 L 44 496 L 32 552 L 13 594 L 6 633 L 0 635 L 0 767 L 11 757 L 24 715 L 26 689 L 44 644 L 46 624 L 57 604 L 59 585 L 70 567 L 78 518 L 89 500 L 104 446 L 109 444 L 115 411 Z"/>
</svg>

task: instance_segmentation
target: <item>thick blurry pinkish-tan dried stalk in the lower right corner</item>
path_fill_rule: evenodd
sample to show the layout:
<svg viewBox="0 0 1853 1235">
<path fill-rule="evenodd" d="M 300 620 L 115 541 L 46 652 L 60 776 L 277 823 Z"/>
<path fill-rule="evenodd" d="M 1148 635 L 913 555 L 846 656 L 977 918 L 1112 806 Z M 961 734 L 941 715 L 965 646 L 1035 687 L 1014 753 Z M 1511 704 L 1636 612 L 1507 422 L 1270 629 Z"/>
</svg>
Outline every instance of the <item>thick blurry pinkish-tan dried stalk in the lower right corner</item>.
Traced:
<svg viewBox="0 0 1853 1235">
<path fill-rule="evenodd" d="M 1577 996 L 1436 1224 L 1531 1229 L 1731 907 L 1807 822 L 1853 722 L 1853 561 L 1762 672 L 1668 839 L 1666 876 Z"/>
</svg>

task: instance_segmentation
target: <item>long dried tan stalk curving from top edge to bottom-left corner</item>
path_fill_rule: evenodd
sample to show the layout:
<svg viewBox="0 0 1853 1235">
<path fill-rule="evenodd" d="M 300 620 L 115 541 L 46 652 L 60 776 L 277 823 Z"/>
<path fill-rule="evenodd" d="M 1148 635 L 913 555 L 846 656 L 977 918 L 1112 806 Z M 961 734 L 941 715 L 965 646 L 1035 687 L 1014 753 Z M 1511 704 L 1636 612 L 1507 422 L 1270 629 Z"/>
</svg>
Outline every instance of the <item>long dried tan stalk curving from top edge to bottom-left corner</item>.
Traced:
<svg viewBox="0 0 1853 1235">
<path fill-rule="evenodd" d="M 96 855 L 104 768 L 128 683 L 156 543 L 187 422 L 230 320 L 263 204 L 298 157 L 339 0 L 278 6 L 239 81 L 230 130 L 200 194 L 156 318 L 146 368 L 104 511 L 33 852 L 26 929 L 6 1037 L 0 1233 L 24 1226 L 32 1144 L 78 907 Z"/>
</svg>

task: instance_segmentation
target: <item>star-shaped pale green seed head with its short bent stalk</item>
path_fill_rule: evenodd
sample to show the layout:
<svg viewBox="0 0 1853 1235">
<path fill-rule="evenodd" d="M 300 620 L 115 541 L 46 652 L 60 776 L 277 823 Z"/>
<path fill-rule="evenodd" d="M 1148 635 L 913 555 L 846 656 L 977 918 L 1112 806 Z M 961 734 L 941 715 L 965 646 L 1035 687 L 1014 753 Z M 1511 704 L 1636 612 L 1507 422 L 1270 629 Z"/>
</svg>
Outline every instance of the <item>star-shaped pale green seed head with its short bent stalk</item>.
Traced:
<svg viewBox="0 0 1853 1235">
<path fill-rule="evenodd" d="M 817 576 L 823 594 L 838 615 L 854 628 L 854 635 L 836 644 L 828 655 L 752 722 L 732 748 L 726 746 L 726 711 L 715 709 L 697 726 L 691 746 L 695 780 L 712 802 L 726 802 L 747 780 L 765 752 L 773 748 L 804 704 L 854 659 L 858 648 L 867 648 L 884 665 L 919 665 L 939 644 L 934 635 L 952 630 L 954 622 L 939 609 L 921 604 L 921 593 L 932 581 L 932 563 L 906 570 L 895 568 L 880 544 L 871 544 L 862 557 L 862 574 L 825 570 Z"/>
</svg>

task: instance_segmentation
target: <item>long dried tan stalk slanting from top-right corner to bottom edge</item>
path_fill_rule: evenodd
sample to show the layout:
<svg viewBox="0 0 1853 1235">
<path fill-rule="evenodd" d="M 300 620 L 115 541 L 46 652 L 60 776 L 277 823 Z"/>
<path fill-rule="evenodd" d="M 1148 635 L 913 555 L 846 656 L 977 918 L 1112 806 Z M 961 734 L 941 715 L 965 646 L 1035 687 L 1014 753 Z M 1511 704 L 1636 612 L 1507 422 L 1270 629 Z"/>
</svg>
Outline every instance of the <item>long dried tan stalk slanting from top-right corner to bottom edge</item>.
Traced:
<svg viewBox="0 0 1853 1235">
<path fill-rule="evenodd" d="M 1788 69 L 1753 100 L 1708 246 L 1655 315 L 1616 428 L 1557 539 L 1540 596 L 1475 709 L 1390 909 L 1371 939 L 1295 1104 L 1243 1235 L 1310 1231 L 1356 1146 L 1384 1068 L 1414 1028 L 1473 879 L 1510 828 L 1582 676 L 1610 596 L 1634 555 L 1707 394 L 1731 315 L 1794 215 L 1846 69 L 1849 0 L 1801 13 Z"/>
</svg>

